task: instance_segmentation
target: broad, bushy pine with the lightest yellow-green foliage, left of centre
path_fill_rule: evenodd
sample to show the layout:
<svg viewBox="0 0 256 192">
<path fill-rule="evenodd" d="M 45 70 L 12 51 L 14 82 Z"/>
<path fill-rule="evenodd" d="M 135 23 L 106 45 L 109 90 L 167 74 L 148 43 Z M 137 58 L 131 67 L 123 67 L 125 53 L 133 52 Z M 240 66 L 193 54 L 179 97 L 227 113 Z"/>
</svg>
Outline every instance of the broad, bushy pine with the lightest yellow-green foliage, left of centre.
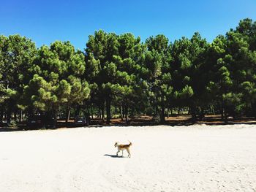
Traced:
<svg viewBox="0 0 256 192">
<path fill-rule="evenodd" d="M 25 87 L 29 106 L 42 112 L 53 112 L 61 105 L 69 108 L 89 98 L 89 84 L 82 80 L 86 70 L 84 55 L 70 42 L 53 42 L 42 46 L 29 72 L 33 75 Z"/>
</svg>

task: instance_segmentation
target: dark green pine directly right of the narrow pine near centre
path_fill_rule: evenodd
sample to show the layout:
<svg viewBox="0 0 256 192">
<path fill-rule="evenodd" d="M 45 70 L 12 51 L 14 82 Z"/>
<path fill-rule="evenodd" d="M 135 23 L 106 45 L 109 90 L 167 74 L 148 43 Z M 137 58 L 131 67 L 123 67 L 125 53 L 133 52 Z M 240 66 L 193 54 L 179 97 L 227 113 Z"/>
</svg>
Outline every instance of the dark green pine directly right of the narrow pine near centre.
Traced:
<svg viewBox="0 0 256 192">
<path fill-rule="evenodd" d="M 189 106 L 193 120 L 206 88 L 207 74 L 203 70 L 207 47 L 206 39 L 198 33 L 191 39 L 183 37 L 172 46 L 174 98 L 181 106 Z"/>
</svg>

